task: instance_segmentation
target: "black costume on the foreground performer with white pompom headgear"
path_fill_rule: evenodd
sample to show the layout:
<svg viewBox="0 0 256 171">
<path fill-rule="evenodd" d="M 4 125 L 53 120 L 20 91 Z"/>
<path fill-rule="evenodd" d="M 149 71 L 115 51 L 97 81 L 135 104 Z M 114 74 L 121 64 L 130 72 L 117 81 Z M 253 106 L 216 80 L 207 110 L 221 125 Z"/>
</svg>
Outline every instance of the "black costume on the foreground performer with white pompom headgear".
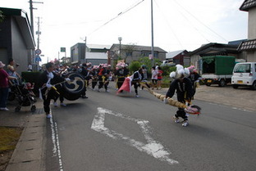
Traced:
<svg viewBox="0 0 256 171">
<path fill-rule="evenodd" d="M 192 83 L 190 79 L 184 78 L 184 79 L 175 79 L 171 82 L 170 88 L 167 92 L 167 97 L 173 97 L 174 93 L 177 93 L 177 100 L 185 103 L 185 100 L 190 101 L 193 90 L 192 90 Z M 183 108 L 179 108 L 179 110 L 176 111 L 176 118 L 181 117 L 184 120 L 187 120 L 188 117 L 185 115 L 185 110 Z"/>
</svg>

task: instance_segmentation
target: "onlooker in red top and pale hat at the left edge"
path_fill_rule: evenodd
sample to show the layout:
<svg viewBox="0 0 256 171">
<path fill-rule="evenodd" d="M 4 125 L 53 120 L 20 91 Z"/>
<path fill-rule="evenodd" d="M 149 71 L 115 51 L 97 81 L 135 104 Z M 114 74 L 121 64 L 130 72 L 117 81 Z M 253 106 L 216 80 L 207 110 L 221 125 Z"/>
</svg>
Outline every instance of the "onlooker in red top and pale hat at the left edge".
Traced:
<svg viewBox="0 0 256 171">
<path fill-rule="evenodd" d="M 16 79 L 16 77 L 7 74 L 7 71 L 3 70 L 5 64 L 0 61 L 0 110 L 7 111 L 7 97 L 9 92 L 8 79 Z"/>
</svg>

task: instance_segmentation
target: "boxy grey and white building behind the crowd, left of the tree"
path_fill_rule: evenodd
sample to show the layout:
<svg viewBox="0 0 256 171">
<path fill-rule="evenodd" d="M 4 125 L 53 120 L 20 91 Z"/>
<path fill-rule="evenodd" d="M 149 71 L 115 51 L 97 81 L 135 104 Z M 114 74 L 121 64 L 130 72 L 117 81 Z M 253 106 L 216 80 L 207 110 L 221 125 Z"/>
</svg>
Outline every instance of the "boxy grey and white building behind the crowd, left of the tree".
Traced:
<svg viewBox="0 0 256 171">
<path fill-rule="evenodd" d="M 107 63 L 107 52 L 109 51 L 109 45 L 95 45 L 85 43 L 76 43 L 71 47 L 71 63 L 82 64 L 91 62 L 92 65 L 99 65 Z"/>
</svg>

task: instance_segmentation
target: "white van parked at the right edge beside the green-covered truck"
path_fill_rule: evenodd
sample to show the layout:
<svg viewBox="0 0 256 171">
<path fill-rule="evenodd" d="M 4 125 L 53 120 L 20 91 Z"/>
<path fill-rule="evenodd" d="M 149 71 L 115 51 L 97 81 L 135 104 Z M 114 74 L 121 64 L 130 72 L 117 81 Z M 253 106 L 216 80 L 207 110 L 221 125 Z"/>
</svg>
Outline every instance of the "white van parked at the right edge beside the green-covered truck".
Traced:
<svg viewBox="0 0 256 171">
<path fill-rule="evenodd" d="M 233 88 L 250 86 L 256 90 L 256 62 L 237 63 L 231 78 Z"/>
</svg>

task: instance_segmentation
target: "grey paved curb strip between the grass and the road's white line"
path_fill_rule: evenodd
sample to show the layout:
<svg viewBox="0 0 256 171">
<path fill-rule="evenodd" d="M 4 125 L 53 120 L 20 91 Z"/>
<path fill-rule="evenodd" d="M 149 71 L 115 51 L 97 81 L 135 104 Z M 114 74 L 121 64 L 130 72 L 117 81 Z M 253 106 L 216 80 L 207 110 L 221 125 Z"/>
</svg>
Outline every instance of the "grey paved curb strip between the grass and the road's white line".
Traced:
<svg viewBox="0 0 256 171">
<path fill-rule="evenodd" d="M 46 119 L 42 110 L 31 114 L 11 155 L 6 171 L 44 171 Z"/>
</svg>

